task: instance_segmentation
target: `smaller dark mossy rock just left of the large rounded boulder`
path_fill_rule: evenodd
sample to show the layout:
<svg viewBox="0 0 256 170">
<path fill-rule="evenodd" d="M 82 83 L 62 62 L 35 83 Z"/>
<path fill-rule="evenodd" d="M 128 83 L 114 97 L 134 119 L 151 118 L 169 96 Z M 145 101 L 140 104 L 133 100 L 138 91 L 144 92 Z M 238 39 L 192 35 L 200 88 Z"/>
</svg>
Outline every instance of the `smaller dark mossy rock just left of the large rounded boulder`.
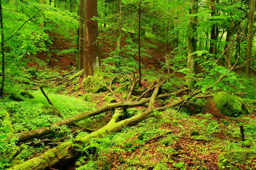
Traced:
<svg viewBox="0 0 256 170">
<path fill-rule="evenodd" d="M 184 105 L 183 111 L 188 113 L 190 116 L 202 113 L 205 108 L 205 99 L 193 99 Z"/>
</svg>

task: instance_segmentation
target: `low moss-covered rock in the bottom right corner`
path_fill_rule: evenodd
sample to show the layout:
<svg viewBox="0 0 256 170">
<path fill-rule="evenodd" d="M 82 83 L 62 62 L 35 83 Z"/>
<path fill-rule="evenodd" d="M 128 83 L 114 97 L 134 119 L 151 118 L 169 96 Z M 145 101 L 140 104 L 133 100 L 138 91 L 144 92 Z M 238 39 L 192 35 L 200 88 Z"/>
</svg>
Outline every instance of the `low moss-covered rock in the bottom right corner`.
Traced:
<svg viewBox="0 0 256 170">
<path fill-rule="evenodd" d="M 238 151 L 230 151 L 224 152 L 218 155 L 218 167 L 219 169 L 224 170 L 236 170 L 240 169 L 236 167 L 234 164 L 251 164 L 251 159 L 256 158 L 256 151 L 254 150 L 238 150 Z M 255 167 L 248 167 L 248 169 L 255 169 Z"/>
</svg>

